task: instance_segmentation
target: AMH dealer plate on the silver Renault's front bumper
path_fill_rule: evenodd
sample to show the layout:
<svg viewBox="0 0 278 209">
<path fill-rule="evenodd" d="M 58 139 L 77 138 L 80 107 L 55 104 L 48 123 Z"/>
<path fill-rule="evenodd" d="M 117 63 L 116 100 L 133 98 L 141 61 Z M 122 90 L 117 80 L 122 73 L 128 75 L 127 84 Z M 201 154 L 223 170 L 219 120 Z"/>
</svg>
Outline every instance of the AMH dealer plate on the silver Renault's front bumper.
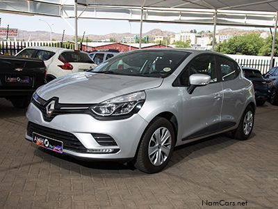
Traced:
<svg viewBox="0 0 278 209">
<path fill-rule="evenodd" d="M 33 132 L 33 143 L 37 144 L 38 146 L 42 146 L 43 148 L 52 150 L 56 153 L 63 153 L 63 141 L 51 139 Z"/>
</svg>

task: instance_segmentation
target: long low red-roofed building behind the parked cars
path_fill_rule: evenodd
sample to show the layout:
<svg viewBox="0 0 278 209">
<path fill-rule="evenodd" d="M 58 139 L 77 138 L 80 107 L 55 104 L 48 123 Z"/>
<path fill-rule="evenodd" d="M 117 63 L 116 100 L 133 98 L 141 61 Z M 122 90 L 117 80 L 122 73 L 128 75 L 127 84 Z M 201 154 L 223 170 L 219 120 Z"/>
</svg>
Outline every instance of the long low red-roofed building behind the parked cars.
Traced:
<svg viewBox="0 0 278 209">
<path fill-rule="evenodd" d="M 141 49 L 149 48 L 165 48 L 165 45 L 155 44 L 155 43 L 142 43 Z M 121 42 L 88 42 L 86 45 L 83 43 L 82 50 L 87 52 L 92 52 L 95 50 L 104 50 L 104 49 L 117 49 L 120 52 L 128 52 L 130 50 L 139 49 L 138 43 L 121 43 Z"/>
</svg>

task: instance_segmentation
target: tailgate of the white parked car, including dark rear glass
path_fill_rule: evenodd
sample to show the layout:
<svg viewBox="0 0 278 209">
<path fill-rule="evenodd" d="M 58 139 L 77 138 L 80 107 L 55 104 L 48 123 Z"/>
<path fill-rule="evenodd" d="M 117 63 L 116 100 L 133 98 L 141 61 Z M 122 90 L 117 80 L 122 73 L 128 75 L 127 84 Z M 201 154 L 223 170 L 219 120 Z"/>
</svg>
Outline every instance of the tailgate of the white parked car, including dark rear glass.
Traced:
<svg viewBox="0 0 278 209">
<path fill-rule="evenodd" d="M 95 67 L 94 61 L 83 52 L 62 52 L 60 58 L 72 65 L 72 72 L 83 72 Z"/>
</svg>

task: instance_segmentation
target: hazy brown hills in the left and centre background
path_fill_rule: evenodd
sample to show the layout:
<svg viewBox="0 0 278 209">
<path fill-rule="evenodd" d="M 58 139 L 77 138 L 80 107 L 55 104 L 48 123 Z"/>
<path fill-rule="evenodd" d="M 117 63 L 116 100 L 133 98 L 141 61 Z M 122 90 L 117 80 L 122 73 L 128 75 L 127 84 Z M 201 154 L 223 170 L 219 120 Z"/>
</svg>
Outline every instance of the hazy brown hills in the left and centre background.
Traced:
<svg viewBox="0 0 278 209">
<path fill-rule="evenodd" d="M 123 37 L 126 36 L 135 36 L 139 33 L 109 33 L 106 35 L 94 35 L 94 34 L 85 34 L 85 38 L 88 37 L 92 40 L 104 40 L 113 38 L 116 41 L 122 40 Z M 62 33 L 52 33 L 52 40 L 62 40 Z M 149 36 L 152 40 L 154 36 L 174 36 L 174 32 L 171 31 L 161 31 L 160 29 L 153 29 L 148 31 L 147 33 L 142 33 L 142 36 Z M 18 30 L 17 40 L 50 40 L 50 32 L 49 31 L 22 31 Z M 85 40 L 84 38 L 84 40 Z M 65 35 L 64 40 L 73 40 L 74 36 L 72 35 Z"/>
</svg>

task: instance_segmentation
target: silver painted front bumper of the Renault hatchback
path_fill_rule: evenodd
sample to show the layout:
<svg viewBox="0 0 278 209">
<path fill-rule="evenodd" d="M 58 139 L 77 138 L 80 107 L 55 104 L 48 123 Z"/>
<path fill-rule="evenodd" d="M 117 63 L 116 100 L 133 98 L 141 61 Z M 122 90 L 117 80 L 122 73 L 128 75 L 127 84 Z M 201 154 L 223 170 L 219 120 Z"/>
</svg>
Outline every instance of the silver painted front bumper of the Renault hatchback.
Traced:
<svg viewBox="0 0 278 209">
<path fill-rule="evenodd" d="M 88 150 L 114 148 L 117 153 L 86 153 L 84 151 L 63 149 L 63 153 L 74 157 L 88 158 L 92 160 L 124 160 L 136 155 L 136 150 L 142 133 L 147 127 L 139 114 L 131 118 L 117 121 L 98 121 L 88 114 L 63 114 L 55 116 L 52 121 L 44 121 L 42 112 L 31 103 L 26 113 L 28 122 L 39 124 L 42 127 L 60 130 L 73 134 L 83 147 Z M 103 146 L 92 137 L 93 134 L 107 134 L 111 136 L 117 146 Z M 40 132 L 38 132 L 40 134 Z M 28 141 L 33 141 L 30 134 L 25 135 Z"/>
</svg>

